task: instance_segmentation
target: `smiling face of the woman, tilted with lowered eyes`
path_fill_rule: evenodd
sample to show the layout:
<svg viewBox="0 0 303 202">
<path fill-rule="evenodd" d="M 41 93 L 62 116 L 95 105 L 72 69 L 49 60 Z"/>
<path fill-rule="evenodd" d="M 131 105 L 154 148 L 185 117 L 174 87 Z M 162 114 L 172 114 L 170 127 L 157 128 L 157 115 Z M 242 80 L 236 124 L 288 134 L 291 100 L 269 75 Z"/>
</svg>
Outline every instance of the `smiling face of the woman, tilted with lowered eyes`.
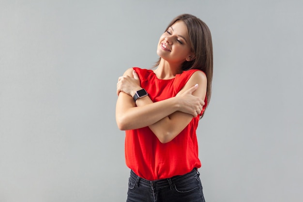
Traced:
<svg viewBox="0 0 303 202">
<path fill-rule="evenodd" d="M 191 43 L 185 23 L 175 22 L 164 32 L 159 40 L 157 54 L 167 62 L 180 63 L 192 60 Z"/>
</svg>

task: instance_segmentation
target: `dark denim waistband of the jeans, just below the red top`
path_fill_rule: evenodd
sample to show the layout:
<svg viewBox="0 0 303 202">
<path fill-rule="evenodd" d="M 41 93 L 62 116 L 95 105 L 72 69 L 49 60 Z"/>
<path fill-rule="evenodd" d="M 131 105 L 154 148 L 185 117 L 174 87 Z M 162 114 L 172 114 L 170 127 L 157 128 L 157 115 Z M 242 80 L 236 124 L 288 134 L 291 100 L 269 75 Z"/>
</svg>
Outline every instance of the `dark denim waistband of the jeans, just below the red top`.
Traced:
<svg viewBox="0 0 303 202">
<path fill-rule="evenodd" d="M 162 188 L 165 186 L 172 187 L 173 184 L 177 184 L 179 182 L 182 182 L 186 179 L 189 179 L 189 178 L 192 178 L 195 176 L 198 177 L 199 175 L 200 175 L 200 173 L 197 171 L 197 168 L 194 168 L 192 171 L 190 171 L 184 175 L 176 175 L 176 176 L 173 176 L 173 177 L 167 178 L 167 179 L 149 181 L 149 180 L 139 177 L 138 175 L 136 175 L 136 173 L 134 171 L 131 170 L 130 178 L 132 178 L 133 180 L 136 181 L 137 186 L 143 185 L 143 186 L 148 186 L 148 187 L 152 187 L 152 188 Z"/>
</svg>

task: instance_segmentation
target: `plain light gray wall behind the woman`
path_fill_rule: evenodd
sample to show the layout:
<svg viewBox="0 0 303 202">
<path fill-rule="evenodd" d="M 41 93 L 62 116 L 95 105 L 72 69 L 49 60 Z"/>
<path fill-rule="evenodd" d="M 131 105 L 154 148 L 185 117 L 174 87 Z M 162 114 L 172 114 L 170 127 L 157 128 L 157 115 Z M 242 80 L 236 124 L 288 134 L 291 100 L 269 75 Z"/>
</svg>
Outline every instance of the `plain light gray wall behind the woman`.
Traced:
<svg viewBox="0 0 303 202">
<path fill-rule="evenodd" d="M 0 0 L 0 202 L 123 202 L 116 83 L 182 13 L 212 31 L 207 202 L 302 202 L 300 0 Z"/>
</svg>

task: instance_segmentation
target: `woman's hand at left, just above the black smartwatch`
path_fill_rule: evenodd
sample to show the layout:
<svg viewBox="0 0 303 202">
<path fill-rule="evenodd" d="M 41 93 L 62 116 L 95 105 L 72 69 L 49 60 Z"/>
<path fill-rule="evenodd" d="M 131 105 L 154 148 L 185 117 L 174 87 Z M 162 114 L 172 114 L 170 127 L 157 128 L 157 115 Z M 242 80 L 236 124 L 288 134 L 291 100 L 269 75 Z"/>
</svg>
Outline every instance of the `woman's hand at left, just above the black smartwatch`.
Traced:
<svg viewBox="0 0 303 202">
<path fill-rule="evenodd" d="M 133 70 L 133 77 L 119 77 L 117 83 L 117 95 L 119 95 L 119 93 L 122 91 L 124 93 L 129 94 L 130 96 L 134 96 L 136 91 L 140 89 L 142 89 L 140 86 L 140 79 L 135 70 Z"/>
</svg>

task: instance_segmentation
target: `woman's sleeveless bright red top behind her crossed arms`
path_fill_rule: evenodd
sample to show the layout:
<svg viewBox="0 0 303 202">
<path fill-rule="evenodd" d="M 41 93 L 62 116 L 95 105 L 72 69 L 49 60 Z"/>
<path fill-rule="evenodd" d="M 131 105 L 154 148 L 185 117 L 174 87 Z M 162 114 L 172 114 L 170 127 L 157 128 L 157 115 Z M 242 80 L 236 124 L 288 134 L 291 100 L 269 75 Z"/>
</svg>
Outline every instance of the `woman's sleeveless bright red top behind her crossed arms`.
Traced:
<svg viewBox="0 0 303 202">
<path fill-rule="evenodd" d="M 152 70 L 134 67 L 144 88 L 153 102 L 174 97 L 195 71 L 183 71 L 172 79 L 159 79 Z M 204 112 L 205 105 L 200 115 Z M 166 179 L 183 175 L 200 168 L 196 130 L 199 116 L 182 130 L 173 140 L 161 143 L 149 127 L 125 131 L 126 165 L 138 176 L 147 180 Z"/>
</svg>

